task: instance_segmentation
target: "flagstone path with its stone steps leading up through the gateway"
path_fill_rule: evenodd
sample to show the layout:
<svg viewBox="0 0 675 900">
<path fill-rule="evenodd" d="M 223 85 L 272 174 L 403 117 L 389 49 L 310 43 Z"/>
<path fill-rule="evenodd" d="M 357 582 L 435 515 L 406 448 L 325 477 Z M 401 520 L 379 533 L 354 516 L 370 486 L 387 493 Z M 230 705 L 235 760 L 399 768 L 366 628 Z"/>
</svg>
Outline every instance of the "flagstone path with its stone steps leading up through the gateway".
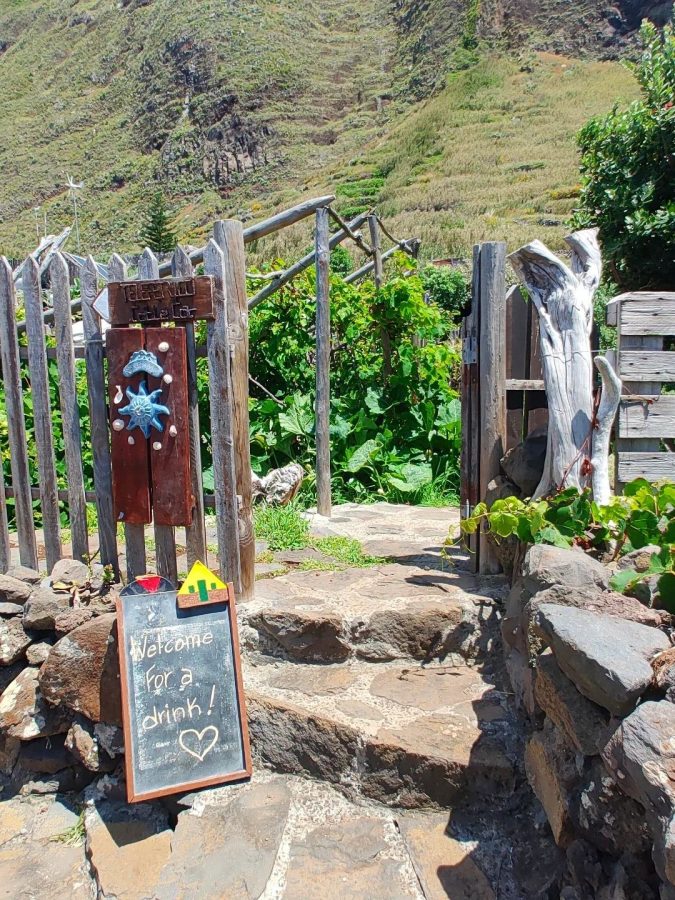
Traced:
<svg viewBox="0 0 675 900">
<path fill-rule="evenodd" d="M 507 585 L 444 557 L 457 519 L 389 504 L 314 516 L 314 533 L 386 561 L 287 561 L 239 604 L 252 781 L 134 806 L 119 774 L 80 795 L 7 783 L 0 900 L 549 896 L 558 851 L 501 665 Z"/>
</svg>

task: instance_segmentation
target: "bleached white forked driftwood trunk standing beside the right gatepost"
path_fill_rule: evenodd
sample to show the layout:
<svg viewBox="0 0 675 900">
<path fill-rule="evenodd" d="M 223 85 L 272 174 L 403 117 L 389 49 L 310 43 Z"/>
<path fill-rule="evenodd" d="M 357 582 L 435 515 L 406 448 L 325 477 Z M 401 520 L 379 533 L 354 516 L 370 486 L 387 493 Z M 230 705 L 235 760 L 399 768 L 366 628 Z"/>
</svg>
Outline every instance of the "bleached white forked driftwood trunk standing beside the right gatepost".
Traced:
<svg viewBox="0 0 675 900">
<path fill-rule="evenodd" d="M 606 503 L 609 486 L 609 438 L 621 382 L 604 357 L 595 365 L 602 379 L 599 405 L 593 400 L 593 296 L 602 263 L 597 231 L 565 238 L 571 268 L 540 241 L 509 257 L 539 314 L 544 385 L 549 425 L 546 462 L 534 499 L 561 487 L 592 485 L 593 497 Z"/>
</svg>

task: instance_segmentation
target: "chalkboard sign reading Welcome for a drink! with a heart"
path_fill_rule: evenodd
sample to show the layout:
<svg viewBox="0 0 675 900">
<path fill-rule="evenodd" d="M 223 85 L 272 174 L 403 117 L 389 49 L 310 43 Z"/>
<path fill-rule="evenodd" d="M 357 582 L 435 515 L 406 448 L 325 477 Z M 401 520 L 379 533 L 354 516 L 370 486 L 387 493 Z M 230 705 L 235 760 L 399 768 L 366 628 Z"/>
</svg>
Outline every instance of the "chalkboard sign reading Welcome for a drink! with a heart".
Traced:
<svg viewBox="0 0 675 900">
<path fill-rule="evenodd" d="M 234 604 L 129 594 L 117 625 L 129 802 L 249 777 Z"/>
</svg>

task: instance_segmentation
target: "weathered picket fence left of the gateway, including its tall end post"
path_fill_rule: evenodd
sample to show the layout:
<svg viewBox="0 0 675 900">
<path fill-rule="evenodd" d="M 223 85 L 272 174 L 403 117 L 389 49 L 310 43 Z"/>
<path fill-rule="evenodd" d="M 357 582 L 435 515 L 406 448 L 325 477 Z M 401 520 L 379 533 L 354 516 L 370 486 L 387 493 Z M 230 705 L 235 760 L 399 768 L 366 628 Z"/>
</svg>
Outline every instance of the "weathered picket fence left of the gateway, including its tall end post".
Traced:
<svg viewBox="0 0 675 900">
<path fill-rule="evenodd" d="M 193 523 L 185 530 L 188 566 L 207 559 L 205 510 L 215 509 L 218 556 L 223 576 L 233 581 L 240 596 L 253 591 L 255 541 L 251 511 L 250 452 L 248 442 L 248 309 L 244 241 L 240 222 L 218 222 L 204 254 L 204 270 L 214 280 L 215 320 L 207 327 L 207 342 L 198 346 L 194 326 L 185 326 L 188 345 L 189 431 L 192 489 L 195 498 Z M 171 261 L 175 276 L 189 277 L 193 267 L 187 253 L 178 247 Z M 139 262 L 138 278 L 159 277 L 159 264 L 146 250 Z M 45 561 L 48 571 L 62 555 L 60 501 L 67 502 L 72 554 L 90 558 L 87 528 L 87 501 L 96 505 L 98 554 L 104 565 L 118 574 L 118 527 L 113 518 L 110 438 L 105 384 L 105 345 L 102 323 L 94 309 L 99 278 L 89 257 L 81 269 L 81 306 L 84 348 L 76 352 L 73 343 L 72 311 L 68 266 L 61 254 L 50 265 L 53 296 L 55 348 L 47 346 L 39 269 L 33 259 L 22 273 L 27 347 L 20 347 L 16 322 L 16 295 L 12 271 L 0 261 L 0 358 L 7 412 L 8 442 L 12 474 L 11 487 L 4 484 L 0 500 L 0 567 L 10 564 L 10 542 L 5 498 L 14 498 L 19 559 L 23 565 L 38 567 L 38 547 L 33 519 L 33 501 L 39 500 L 42 516 Z M 126 280 L 122 258 L 110 261 L 111 280 Z M 197 406 L 197 357 L 207 356 L 210 384 L 211 447 L 214 461 L 214 494 L 205 496 L 202 485 L 201 435 Z M 85 490 L 82 465 L 80 410 L 77 403 L 76 357 L 86 366 L 89 426 L 93 459 L 93 488 Z M 48 360 L 55 359 L 58 370 L 59 409 L 64 443 L 67 491 L 57 490 L 57 473 L 52 432 Z M 22 370 L 22 362 L 27 369 Z M 27 379 L 24 378 L 27 375 Z M 40 484 L 31 486 L 25 408 L 29 396 L 32 407 Z M 127 576 L 146 571 L 145 528 L 123 526 Z M 177 580 L 176 535 L 172 527 L 155 525 L 156 567 L 159 574 Z"/>
</svg>

